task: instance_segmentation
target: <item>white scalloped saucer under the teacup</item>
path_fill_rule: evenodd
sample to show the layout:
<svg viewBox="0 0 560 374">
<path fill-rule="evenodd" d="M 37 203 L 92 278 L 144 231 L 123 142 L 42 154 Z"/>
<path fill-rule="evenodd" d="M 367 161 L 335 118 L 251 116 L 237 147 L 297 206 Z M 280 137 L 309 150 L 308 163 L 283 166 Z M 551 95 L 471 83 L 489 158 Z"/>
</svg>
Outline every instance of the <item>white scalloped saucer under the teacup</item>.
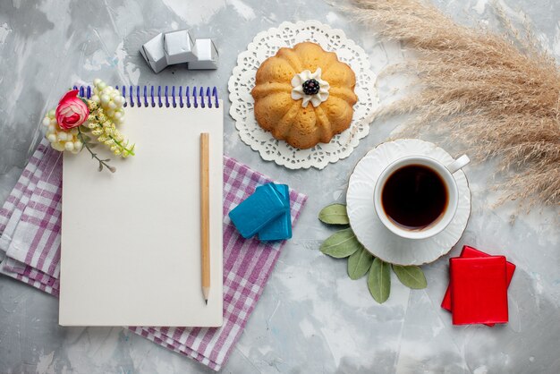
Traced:
<svg viewBox="0 0 560 374">
<path fill-rule="evenodd" d="M 398 265 L 422 265 L 451 251 L 459 241 L 471 215 L 471 190 L 467 177 L 454 174 L 459 188 L 459 204 L 451 223 L 441 233 L 428 239 L 404 239 L 391 233 L 381 223 L 373 206 L 373 190 L 379 174 L 398 158 L 421 155 L 435 158 L 445 165 L 454 158 L 434 143 L 417 139 L 388 141 L 371 149 L 350 176 L 346 204 L 350 225 L 358 240 L 375 257 Z"/>
</svg>

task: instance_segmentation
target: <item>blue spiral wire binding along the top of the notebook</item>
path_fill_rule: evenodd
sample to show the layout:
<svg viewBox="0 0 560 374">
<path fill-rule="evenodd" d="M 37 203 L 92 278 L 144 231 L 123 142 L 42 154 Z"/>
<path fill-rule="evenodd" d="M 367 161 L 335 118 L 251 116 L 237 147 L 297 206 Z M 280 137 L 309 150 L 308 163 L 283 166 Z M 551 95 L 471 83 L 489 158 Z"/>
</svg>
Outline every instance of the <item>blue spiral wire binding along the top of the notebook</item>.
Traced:
<svg viewBox="0 0 560 374">
<path fill-rule="evenodd" d="M 136 87 L 136 95 L 134 95 L 134 87 Z M 156 98 L 157 98 L 157 106 L 161 107 L 164 106 L 164 100 L 162 100 L 161 97 L 161 86 L 157 86 L 157 97 L 156 97 L 156 92 L 155 92 L 155 87 L 156 86 L 149 86 L 149 95 L 148 95 L 148 86 L 143 86 L 143 95 L 140 95 L 140 86 L 129 86 L 128 89 L 126 88 L 126 86 L 122 86 L 120 88 L 121 90 L 121 94 L 123 95 L 123 98 L 125 99 L 123 106 L 152 106 L 155 107 L 156 106 Z M 169 86 L 165 86 L 165 91 L 164 91 L 164 95 L 165 95 L 165 107 L 169 107 L 169 106 L 173 106 L 176 107 L 177 106 L 177 98 L 179 98 L 179 106 L 180 107 L 188 107 L 190 108 L 191 106 L 194 107 L 206 107 L 208 106 L 209 108 L 212 107 L 219 107 L 219 101 L 218 101 L 218 94 L 217 94 L 217 88 L 216 86 L 210 88 L 210 87 L 199 87 L 197 89 L 196 86 L 194 86 L 192 88 L 192 95 L 191 95 L 191 87 L 186 86 L 185 90 L 184 90 L 184 95 L 182 95 L 182 86 L 178 86 L 179 89 L 175 89 L 175 86 L 171 86 L 171 104 L 169 101 Z M 90 86 L 74 86 L 73 89 L 77 89 L 78 90 L 78 95 L 81 98 L 91 98 L 91 96 L 93 95 L 93 89 L 91 89 Z M 119 89 L 119 86 L 115 86 L 115 89 Z M 206 89 L 206 90 L 205 90 Z M 175 92 L 177 92 L 177 95 L 175 95 Z M 128 94 L 128 98 L 127 95 Z M 136 97 L 136 98 L 135 98 Z M 144 102 L 142 103 L 142 97 L 144 98 Z M 206 97 L 206 99 L 205 99 Z M 149 101 L 148 101 L 149 98 Z M 186 98 L 186 103 L 185 103 L 185 99 Z M 192 98 L 192 104 L 191 104 L 191 98 Z M 214 98 L 214 103 L 212 102 L 212 98 Z"/>
</svg>

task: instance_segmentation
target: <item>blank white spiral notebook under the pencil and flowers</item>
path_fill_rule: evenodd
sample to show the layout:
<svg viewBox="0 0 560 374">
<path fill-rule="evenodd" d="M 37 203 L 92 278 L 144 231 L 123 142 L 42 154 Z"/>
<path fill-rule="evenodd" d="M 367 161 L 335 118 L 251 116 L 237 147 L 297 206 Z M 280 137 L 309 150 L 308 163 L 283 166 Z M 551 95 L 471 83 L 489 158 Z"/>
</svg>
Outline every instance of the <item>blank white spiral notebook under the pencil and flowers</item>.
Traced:
<svg viewBox="0 0 560 374">
<path fill-rule="evenodd" d="M 126 87 L 136 156 L 64 154 L 59 323 L 222 325 L 223 105 L 216 89 Z M 90 95 L 81 88 L 81 96 Z M 210 279 L 200 283 L 199 134 L 210 134 Z M 104 153 L 105 152 L 105 153 Z"/>
</svg>

